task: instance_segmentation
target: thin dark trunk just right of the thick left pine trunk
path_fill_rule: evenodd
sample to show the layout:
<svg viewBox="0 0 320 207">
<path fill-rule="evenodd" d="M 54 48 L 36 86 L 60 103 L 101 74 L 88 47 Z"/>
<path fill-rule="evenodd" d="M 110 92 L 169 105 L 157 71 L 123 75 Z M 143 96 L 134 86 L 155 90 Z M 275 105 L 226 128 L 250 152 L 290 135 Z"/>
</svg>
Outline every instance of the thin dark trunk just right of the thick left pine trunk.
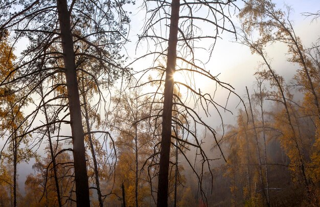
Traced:
<svg viewBox="0 0 320 207">
<path fill-rule="evenodd" d="M 82 76 L 84 74 L 82 73 Z M 84 116 L 85 116 L 85 124 L 87 128 L 87 136 L 89 140 L 89 145 L 90 145 L 90 151 L 92 154 L 92 159 L 94 162 L 94 171 L 95 171 L 95 180 L 96 180 L 96 187 L 97 187 L 97 194 L 98 194 L 98 200 L 99 200 L 99 206 L 103 206 L 103 201 L 102 201 L 102 194 L 101 194 L 101 189 L 100 189 L 100 181 L 99 181 L 99 169 L 98 169 L 98 163 L 97 163 L 97 158 L 96 158 L 96 153 L 95 153 L 95 148 L 94 148 L 94 143 L 92 141 L 92 135 L 91 135 L 91 129 L 90 129 L 90 123 L 89 123 L 89 113 L 88 113 L 88 108 L 87 108 L 87 101 L 86 101 L 86 93 L 84 91 L 84 81 L 83 78 L 81 79 L 81 85 L 82 85 L 82 99 L 83 99 L 83 108 L 84 108 Z"/>
</svg>

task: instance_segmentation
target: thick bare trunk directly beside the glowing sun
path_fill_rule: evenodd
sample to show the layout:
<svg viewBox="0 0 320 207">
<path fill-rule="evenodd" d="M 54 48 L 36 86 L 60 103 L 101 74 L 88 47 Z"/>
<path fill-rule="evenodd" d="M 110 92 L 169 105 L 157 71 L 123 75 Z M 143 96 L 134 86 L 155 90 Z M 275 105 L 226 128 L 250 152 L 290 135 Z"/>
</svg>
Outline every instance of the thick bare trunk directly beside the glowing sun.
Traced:
<svg viewBox="0 0 320 207">
<path fill-rule="evenodd" d="M 176 50 L 178 40 L 180 1 L 172 0 L 171 17 L 169 30 L 169 45 L 167 54 L 166 83 L 164 91 L 164 106 L 162 116 L 162 140 L 160 151 L 160 164 L 158 176 L 157 207 L 168 206 L 168 174 L 171 144 L 171 121 L 172 121 L 172 102 L 173 102 L 173 74 L 176 65 Z"/>
</svg>

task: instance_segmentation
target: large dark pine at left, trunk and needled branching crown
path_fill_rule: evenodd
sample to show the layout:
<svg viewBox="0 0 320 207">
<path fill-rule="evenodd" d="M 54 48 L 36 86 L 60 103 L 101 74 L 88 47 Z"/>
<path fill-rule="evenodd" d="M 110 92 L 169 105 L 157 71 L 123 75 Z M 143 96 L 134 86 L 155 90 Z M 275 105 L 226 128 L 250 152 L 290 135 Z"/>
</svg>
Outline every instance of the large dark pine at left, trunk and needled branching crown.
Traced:
<svg viewBox="0 0 320 207">
<path fill-rule="evenodd" d="M 84 71 L 95 77 L 95 74 L 79 67 L 80 63 L 83 66 L 88 61 L 92 63 L 93 60 L 107 79 L 111 79 L 111 76 L 116 74 L 113 73 L 114 71 L 122 70 L 121 61 L 119 61 L 122 57 L 119 55 L 118 48 L 123 43 L 129 21 L 126 12 L 122 9 L 125 3 L 127 2 L 110 4 L 106 1 L 41 2 L 37 0 L 23 3 L 8 2 L 2 8 L 5 15 L 2 15 L 0 20 L 2 22 L 0 29 L 14 30 L 15 42 L 21 36 L 28 37 L 30 45 L 21 57 L 19 66 L 13 71 L 19 72 L 19 76 L 9 80 L 10 73 L 2 79 L 0 85 L 5 87 L 12 82 L 22 81 L 24 84 L 21 84 L 17 90 L 23 90 L 26 85 L 29 87 L 28 93 L 20 98 L 21 102 L 24 102 L 45 79 L 63 74 L 62 80 L 65 81 L 59 84 L 67 90 L 77 205 L 89 206 L 90 204 L 77 73 Z M 6 13 L 16 6 L 21 9 Z M 6 19 L 3 19 L 4 17 Z M 81 30 L 81 28 L 85 29 Z M 87 45 L 85 52 L 77 50 L 78 42 Z M 52 48 L 57 50 L 51 50 Z M 44 75 L 38 76 L 39 73 Z M 27 117 L 32 117 L 35 113 L 37 110 Z"/>
</svg>

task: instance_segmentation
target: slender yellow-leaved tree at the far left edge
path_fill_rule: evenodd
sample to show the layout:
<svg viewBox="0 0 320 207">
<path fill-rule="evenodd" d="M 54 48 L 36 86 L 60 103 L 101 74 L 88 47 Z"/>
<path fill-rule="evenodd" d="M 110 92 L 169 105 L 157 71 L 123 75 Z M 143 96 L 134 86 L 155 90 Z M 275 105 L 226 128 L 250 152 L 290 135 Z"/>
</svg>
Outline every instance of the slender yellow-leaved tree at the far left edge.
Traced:
<svg viewBox="0 0 320 207">
<path fill-rule="evenodd" d="M 0 42 L 0 50 L 3 51 L 0 57 L 0 74 L 3 77 L 8 77 L 10 80 L 14 80 L 17 76 L 14 67 L 15 56 L 11 46 L 7 43 L 7 37 L 3 36 Z M 22 161 L 28 161 L 32 157 L 32 153 L 28 147 L 20 149 L 20 145 L 26 145 L 28 143 L 28 136 L 24 135 L 25 127 L 27 123 L 24 123 L 24 114 L 22 112 L 22 106 L 19 103 L 19 96 L 22 93 L 14 93 L 15 85 L 7 85 L 0 89 L 1 97 L 1 131 L 4 135 L 7 135 L 7 140 L 1 149 L 0 159 L 2 156 L 8 159 L 8 162 L 13 165 L 12 175 L 12 190 L 13 190 L 13 206 L 17 205 L 17 165 Z M 5 146 L 9 144 L 8 152 L 4 152 Z"/>
</svg>

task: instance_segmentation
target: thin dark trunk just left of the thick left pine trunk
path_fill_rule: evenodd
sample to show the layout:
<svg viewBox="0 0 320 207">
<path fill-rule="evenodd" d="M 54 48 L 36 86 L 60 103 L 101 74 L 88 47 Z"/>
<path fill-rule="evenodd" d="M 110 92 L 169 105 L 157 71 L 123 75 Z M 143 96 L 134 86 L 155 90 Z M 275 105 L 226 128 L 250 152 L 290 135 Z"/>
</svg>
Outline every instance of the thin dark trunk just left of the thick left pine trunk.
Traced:
<svg viewBox="0 0 320 207">
<path fill-rule="evenodd" d="M 44 99 L 42 84 L 40 85 L 40 93 L 41 93 L 41 98 Z M 44 100 L 43 100 L 43 103 L 44 103 Z M 45 105 L 43 105 L 43 112 L 44 112 L 45 122 L 49 124 L 50 122 L 48 118 L 47 107 L 45 107 Z M 57 175 L 57 165 L 56 165 L 56 159 L 55 159 L 55 155 L 52 147 L 50 125 L 48 125 L 47 131 L 48 131 L 47 133 L 48 133 L 48 141 L 49 141 L 49 147 L 50 147 L 50 155 L 51 155 L 52 164 L 53 164 L 53 173 L 54 173 L 54 179 L 55 179 L 55 185 L 56 185 L 57 199 L 58 199 L 59 207 L 61 207 L 62 204 L 61 204 L 59 181 L 58 181 L 58 175 Z"/>
</svg>

